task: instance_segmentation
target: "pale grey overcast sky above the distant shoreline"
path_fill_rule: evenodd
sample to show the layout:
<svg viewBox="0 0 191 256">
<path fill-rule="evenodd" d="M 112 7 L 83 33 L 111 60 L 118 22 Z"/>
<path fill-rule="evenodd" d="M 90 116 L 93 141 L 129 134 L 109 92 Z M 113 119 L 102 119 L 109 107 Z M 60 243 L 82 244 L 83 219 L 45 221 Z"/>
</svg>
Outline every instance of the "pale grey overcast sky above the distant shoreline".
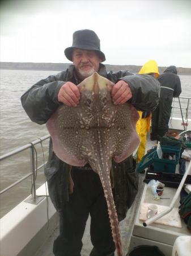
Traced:
<svg viewBox="0 0 191 256">
<path fill-rule="evenodd" d="M 94 30 L 105 64 L 191 68 L 191 0 L 1 1 L 0 60 L 69 63 L 76 30 Z"/>
</svg>

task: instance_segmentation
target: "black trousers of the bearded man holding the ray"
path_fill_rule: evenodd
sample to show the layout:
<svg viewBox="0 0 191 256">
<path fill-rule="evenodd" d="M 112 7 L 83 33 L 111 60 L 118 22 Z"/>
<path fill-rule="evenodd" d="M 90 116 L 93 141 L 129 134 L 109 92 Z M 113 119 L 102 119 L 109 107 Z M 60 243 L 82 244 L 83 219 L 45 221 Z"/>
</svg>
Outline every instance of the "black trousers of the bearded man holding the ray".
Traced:
<svg viewBox="0 0 191 256">
<path fill-rule="evenodd" d="M 73 167 L 71 176 L 74 192 L 70 195 L 69 202 L 66 202 L 63 212 L 60 212 L 60 236 L 54 241 L 54 255 L 81 255 L 82 237 L 90 214 L 90 236 L 94 246 L 90 256 L 114 256 L 116 248 L 99 175 L 92 170 Z"/>
</svg>

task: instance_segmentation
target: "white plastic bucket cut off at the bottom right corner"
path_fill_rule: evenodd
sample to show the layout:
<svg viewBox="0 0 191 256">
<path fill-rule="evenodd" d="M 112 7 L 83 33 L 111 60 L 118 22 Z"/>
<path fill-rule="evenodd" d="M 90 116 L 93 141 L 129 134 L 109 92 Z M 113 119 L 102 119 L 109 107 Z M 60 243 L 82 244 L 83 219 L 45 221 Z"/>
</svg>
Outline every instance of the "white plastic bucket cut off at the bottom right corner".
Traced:
<svg viewBox="0 0 191 256">
<path fill-rule="evenodd" d="M 172 256 L 191 255 L 191 236 L 177 237 L 172 249 Z"/>
</svg>

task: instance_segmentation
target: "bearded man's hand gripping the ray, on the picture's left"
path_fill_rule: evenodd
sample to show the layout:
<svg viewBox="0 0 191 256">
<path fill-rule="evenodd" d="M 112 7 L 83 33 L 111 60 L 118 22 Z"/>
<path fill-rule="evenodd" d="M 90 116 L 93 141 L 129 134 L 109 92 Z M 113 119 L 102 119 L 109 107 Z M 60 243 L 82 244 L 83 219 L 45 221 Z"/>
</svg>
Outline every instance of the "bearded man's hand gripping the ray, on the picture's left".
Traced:
<svg viewBox="0 0 191 256">
<path fill-rule="evenodd" d="M 79 104 L 80 92 L 73 82 L 66 82 L 58 92 L 58 101 L 67 106 L 77 106 Z"/>
</svg>

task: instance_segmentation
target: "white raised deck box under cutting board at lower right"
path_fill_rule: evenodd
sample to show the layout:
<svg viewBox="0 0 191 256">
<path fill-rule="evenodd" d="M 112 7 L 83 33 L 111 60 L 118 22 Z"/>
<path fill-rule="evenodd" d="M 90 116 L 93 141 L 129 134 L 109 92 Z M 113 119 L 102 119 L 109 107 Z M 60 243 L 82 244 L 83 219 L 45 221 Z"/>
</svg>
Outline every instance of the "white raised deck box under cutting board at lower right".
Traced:
<svg viewBox="0 0 191 256">
<path fill-rule="evenodd" d="M 131 250 L 139 245 L 158 246 L 159 250 L 162 251 L 165 256 L 171 256 L 172 247 L 176 238 L 179 236 L 190 236 L 187 225 L 184 220 L 180 218 L 179 213 L 177 213 L 177 208 L 179 208 L 180 205 L 180 197 L 175 201 L 173 210 L 168 215 L 165 215 L 165 217 L 160 218 L 158 221 L 146 227 L 143 226 L 143 219 L 146 220 L 146 204 L 158 205 L 159 211 L 164 210 L 164 208 L 167 209 L 175 196 L 177 188 L 165 187 L 161 199 L 154 201 L 148 184 L 145 184 L 144 187 L 138 214 L 135 218 L 129 249 Z"/>
</svg>

